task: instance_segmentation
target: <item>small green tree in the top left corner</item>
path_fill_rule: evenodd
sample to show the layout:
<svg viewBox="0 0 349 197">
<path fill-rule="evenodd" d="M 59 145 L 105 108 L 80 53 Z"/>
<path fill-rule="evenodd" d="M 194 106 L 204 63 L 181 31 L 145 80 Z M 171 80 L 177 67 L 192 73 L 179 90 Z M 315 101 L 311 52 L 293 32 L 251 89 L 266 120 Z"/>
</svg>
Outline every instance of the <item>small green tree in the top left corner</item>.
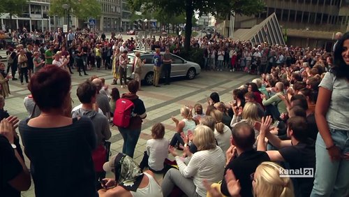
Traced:
<svg viewBox="0 0 349 197">
<path fill-rule="evenodd" d="M 0 13 L 8 13 L 10 15 L 10 28 L 12 28 L 13 15 L 20 16 L 23 13 L 22 6 L 27 4 L 27 0 L 2 0 L 0 6 Z"/>
</svg>

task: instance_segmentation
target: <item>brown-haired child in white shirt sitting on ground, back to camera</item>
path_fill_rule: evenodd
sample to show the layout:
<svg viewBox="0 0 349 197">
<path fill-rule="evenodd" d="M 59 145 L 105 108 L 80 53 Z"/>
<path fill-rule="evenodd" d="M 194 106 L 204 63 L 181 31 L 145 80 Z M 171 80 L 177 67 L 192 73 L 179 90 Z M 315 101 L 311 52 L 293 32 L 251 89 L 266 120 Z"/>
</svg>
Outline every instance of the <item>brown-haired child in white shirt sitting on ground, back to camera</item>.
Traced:
<svg viewBox="0 0 349 197">
<path fill-rule="evenodd" d="M 154 173 L 162 173 L 164 161 L 168 157 L 168 140 L 165 136 L 165 126 L 161 123 L 154 124 L 151 128 L 150 140 L 147 140 L 147 151 L 144 151 L 144 157 L 140 163 L 140 168 L 149 167 Z"/>
</svg>

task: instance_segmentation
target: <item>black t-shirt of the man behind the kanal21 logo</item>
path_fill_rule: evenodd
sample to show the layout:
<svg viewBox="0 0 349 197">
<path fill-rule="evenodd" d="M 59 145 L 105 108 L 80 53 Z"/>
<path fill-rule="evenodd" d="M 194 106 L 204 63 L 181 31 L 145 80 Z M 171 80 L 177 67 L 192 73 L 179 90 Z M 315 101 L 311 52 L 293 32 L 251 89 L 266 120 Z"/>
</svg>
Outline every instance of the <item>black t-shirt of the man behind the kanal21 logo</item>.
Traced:
<svg viewBox="0 0 349 197">
<path fill-rule="evenodd" d="M 290 169 L 313 168 L 315 173 L 315 142 L 312 139 L 306 142 L 298 143 L 290 147 L 279 149 L 281 156 L 287 163 L 290 164 Z M 310 196 L 313 189 L 313 177 L 299 177 L 292 180 L 298 185 L 298 191 L 295 191 L 296 196 Z"/>
</svg>

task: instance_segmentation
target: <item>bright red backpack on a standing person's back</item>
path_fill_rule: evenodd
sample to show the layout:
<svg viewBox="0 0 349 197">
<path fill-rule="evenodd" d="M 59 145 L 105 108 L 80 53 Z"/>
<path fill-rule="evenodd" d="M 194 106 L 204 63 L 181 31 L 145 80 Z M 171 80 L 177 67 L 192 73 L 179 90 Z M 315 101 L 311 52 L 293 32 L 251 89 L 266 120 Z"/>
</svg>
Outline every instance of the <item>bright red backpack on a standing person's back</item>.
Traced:
<svg viewBox="0 0 349 197">
<path fill-rule="evenodd" d="M 114 111 L 112 122 L 115 126 L 126 128 L 130 125 L 132 110 L 135 107 L 132 101 L 128 99 L 118 99 Z"/>
</svg>

